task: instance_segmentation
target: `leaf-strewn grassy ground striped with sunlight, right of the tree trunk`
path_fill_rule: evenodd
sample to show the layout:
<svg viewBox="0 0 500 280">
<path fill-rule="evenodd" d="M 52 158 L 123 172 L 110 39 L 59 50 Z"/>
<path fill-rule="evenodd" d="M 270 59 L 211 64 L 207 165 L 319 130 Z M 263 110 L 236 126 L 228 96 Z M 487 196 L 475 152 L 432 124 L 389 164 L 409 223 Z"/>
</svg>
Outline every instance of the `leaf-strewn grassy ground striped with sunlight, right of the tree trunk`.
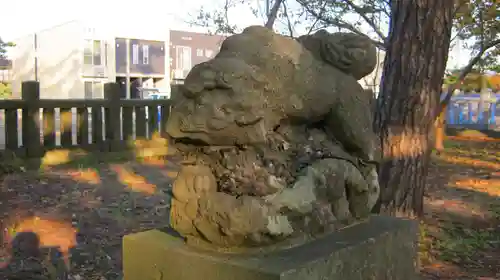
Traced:
<svg viewBox="0 0 500 280">
<path fill-rule="evenodd" d="M 421 235 L 425 279 L 500 279 L 500 142 L 433 155 Z"/>
</svg>

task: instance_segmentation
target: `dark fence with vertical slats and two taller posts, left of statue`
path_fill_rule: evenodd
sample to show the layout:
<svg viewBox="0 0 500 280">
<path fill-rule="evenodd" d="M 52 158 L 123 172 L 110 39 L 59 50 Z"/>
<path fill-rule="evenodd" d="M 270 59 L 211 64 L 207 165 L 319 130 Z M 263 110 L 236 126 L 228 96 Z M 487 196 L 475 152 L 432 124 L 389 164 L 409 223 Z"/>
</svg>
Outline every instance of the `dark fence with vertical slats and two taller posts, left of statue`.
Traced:
<svg viewBox="0 0 500 280">
<path fill-rule="evenodd" d="M 2 100 L 4 148 L 22 157 L 42 157 L 56 147 L 120 151 L 135 139 L 166 137 L 170 100 L 120 98 L 116 83 L 104 99 L 40 99 L 40 85 L 22 84 L 21 100 Z"/>
</svg>

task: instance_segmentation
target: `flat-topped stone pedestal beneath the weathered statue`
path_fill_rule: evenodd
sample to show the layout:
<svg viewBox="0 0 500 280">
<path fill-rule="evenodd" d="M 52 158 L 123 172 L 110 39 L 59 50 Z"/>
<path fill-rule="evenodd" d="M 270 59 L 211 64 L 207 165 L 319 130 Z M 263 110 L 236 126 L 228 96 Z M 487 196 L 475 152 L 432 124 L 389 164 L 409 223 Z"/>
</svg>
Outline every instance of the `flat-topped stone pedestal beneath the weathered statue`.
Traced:
<svg viewBox="0 0 500 280">
<path fill-rule="evenodd" d="M 218 254 L 151 230 L 124 237 L 125 280 L 414 280 L 415 221 L 374 216 L 295 248 Z"/>
</svg>

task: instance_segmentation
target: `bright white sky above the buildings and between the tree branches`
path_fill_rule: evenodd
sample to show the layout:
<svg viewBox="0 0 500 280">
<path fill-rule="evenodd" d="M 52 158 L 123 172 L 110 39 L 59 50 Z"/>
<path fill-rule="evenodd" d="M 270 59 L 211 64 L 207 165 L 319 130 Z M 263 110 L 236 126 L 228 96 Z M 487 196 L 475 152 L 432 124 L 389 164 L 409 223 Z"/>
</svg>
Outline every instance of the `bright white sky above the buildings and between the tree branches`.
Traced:
<svg viewBox="0 0 500 280">
<path fill-rule="evenodd" d="M 251 1 L 263 10 L 264 1 Z M 205 28 L 193 27 L 188 21 L 202 6 L 213 9 L 220 7 L 221 3 L 222 0 L 2 0 L 0 37 L 4 41 L 14 40 L 80 19 L 96 22 L 121 20 L 121 24 L 130 29 L 168 26 L 170 29 L 205 32 Z M 248 6 L 232 9 L 229 18 L 231 23 L 240 27 L 262 24 L 262 19 L 256 18 Z M 469 60 L 468 51 L 459 47 L 454 48 L 450 56 L 450 68 L 463 66 Z"/>
</svg>

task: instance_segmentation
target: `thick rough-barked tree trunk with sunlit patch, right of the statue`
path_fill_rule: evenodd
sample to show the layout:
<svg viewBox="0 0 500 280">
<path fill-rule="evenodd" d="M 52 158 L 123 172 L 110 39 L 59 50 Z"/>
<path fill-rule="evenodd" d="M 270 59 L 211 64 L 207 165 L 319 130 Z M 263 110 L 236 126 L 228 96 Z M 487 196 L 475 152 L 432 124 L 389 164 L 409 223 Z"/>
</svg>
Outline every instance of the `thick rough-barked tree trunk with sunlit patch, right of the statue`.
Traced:
<svg viewBox="0 0 500 280">
<path fill-rule="evenodd" d="M 423 213 L 431 129 L 450 46 L 454 1 L 393 0 L 374 128 L 380 135 L 376 212 Z"/>
</svg>

